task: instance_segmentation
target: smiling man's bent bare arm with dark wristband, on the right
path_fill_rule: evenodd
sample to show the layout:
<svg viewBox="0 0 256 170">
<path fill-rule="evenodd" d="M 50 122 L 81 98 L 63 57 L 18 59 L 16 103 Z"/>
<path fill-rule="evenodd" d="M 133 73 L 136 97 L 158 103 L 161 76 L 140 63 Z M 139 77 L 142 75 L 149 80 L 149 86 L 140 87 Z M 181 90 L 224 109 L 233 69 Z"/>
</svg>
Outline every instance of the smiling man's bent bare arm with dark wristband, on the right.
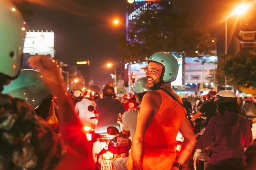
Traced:
<svg viewBox="0 0 256 170">
<path fill-rule="evenodd" d="M 181 127 L 179 128 L 179 131 L 184 136 L 184 149 L 180 153 L 177 162 L 183 165 L 186 160 L 188 160 L 194 149 L 194 146 L 196 144 L 196 137 L 188 121 L 188 118 L 185 118 L 183 122 L 181 122 Z"/>
</svg>

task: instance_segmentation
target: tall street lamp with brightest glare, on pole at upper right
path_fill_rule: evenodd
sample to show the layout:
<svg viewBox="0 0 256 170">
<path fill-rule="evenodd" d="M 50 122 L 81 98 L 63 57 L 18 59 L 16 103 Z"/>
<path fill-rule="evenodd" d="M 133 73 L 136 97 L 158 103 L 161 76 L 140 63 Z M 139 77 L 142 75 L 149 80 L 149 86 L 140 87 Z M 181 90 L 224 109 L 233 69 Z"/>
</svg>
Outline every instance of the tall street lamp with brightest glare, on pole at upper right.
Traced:
<svg viewBox="0 0 256 170">
<path fill-rule="evenodd" d="M 225 19 L 225 55 L 228 54 L 228 18 L 233 15 L 241 16 L 249 9 L 250 4 L 238 5 L 235 10 Z M 227 76 L 225 76 L 225 90 L 227 90 Z"/>
</svg>

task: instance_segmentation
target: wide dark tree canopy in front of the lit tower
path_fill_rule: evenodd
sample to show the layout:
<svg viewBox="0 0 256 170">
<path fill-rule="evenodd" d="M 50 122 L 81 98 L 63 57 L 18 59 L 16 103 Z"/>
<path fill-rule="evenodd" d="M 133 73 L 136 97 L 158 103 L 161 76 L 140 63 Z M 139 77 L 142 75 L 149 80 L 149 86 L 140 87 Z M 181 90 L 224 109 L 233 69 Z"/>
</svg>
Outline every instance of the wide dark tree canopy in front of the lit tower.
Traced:
<svg viewBox="0 0 256 170">
<path fill-rule="evenodd" d="M 119 39 L 118 50 L 124 61 L 145 59 L 157 51 L 174 51 L 194 56 L 195 51 L 208 55 L 215 43 L 207 30 L 200 27 L 189 14 L 146 11 L 134 23 L 129 32 L 129 43 L 125 36 Z"/>
</svg>

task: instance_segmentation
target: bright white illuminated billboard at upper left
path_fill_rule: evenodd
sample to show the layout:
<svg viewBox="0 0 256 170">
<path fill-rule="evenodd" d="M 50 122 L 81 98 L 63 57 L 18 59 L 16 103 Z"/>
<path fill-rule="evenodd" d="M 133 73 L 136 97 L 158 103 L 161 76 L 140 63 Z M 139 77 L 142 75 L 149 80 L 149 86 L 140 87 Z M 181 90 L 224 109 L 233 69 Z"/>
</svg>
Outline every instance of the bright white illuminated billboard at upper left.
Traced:
<svg viewBox="0 0 256 170">
<path fill-rule="evenodd" d="M 54 57 L 54 32 L 27 32 L 23 53 Z"/>
</svg>

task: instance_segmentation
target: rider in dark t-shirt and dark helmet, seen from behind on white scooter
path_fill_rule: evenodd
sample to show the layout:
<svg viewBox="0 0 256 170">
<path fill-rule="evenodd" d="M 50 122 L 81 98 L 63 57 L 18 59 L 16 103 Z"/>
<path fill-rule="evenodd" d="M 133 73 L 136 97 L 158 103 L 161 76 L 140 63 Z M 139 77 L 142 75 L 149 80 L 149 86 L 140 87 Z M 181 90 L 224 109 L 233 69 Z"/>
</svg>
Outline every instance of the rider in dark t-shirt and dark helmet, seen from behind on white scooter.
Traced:
<svg viewBox="0 0 256 170">
<path fill-rule="evenodd" d="M 125 112 L 124 106 L 118 100 L 113 98 L 115 89 L 113 84 L 106 83 L 103 86 L 103 98 L 98 99 L 96 110 L 99 113 L 98 123 L 95 133 L 107 133 L 107 127 L 114 126 L 120 130 L 117 124 L 119 113 Z"/>
</svg>

